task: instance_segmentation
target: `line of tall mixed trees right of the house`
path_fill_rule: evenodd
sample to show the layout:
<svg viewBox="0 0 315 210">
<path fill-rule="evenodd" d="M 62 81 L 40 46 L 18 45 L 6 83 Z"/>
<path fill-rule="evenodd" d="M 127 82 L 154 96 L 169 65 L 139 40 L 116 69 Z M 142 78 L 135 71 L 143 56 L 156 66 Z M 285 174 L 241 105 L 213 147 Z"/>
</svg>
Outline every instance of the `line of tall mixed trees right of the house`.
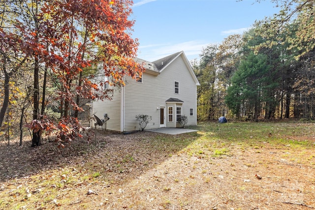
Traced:
<svg viewBox="0 0 315 210">
<path fill-rule="evenodd" d="M 192 63 L 198 120 L 315 119 L 315 0 L 273 1 L 279 14 Z"/>
</svg>

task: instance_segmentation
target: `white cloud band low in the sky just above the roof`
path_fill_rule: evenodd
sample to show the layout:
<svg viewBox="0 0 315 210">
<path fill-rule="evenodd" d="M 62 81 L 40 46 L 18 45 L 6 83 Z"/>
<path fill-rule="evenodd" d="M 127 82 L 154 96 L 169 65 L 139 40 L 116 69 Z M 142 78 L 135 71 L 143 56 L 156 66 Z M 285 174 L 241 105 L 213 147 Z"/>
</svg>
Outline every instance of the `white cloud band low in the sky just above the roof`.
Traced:
<svg viewBox="0 0 315 210">
<path fill-rule="evenodd" d="M 206 47 L 209 43 L 200 40 L 192 40 L 182 43 L 165 43 L 163 45 L 152 44 L 146 46 L 139 46 L 138 58 L 148 61 L 154 61 L 173 53 L 184 51 L 188 60 L 198 59 L 201 54 L 202 48 Z"/>
</svg>

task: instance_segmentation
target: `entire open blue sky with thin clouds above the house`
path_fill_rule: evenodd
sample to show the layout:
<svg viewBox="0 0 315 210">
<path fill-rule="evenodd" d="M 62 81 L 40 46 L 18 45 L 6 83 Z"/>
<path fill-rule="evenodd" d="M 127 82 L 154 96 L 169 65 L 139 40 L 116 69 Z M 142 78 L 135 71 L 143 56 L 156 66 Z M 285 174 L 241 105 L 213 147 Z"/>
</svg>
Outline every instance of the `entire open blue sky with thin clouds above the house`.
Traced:
<svg viewBox="0 0 315 210">
<path fill-rule="evenodd" d="M 155 61 L 184 51 L 188 60 L 199 59 L 209 44 L 250 29 L 255 20 L 278 13 L 270 0 L 133 0 L 137 57 Z"/>
</svg>

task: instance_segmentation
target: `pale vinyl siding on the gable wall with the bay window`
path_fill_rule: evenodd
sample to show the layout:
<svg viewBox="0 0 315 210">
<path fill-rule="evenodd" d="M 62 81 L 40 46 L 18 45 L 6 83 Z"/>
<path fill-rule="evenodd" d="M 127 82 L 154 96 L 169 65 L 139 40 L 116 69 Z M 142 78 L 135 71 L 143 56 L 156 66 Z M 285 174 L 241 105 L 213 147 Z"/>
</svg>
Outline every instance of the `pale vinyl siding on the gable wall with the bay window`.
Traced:
<svg viewBox="0 0 315 210">
<path fill-rule="evenodd" d="M 184 101 L 183 104 L 176 104 L 182 107 L 182 115 L 188 117 L 187 125 L 196 125 L 196 116 L 189 115 L 189 109 L 196 107 L 196 83 L 184 63 L 182 56 L 171 62 L 157 76 L 143 73 L 145 80 L 142 83 L 135 83 L 131 77 L 126 77 L 125 87 L 125 131 L 139 130 L 139 125 L 135 119 L 136 115 L 143 114 L 152 116 L 152 120 L 145 129 L 159 128 L 159 110 L 158 107 L 165 107 L 165 123 L 166 127 L 180 127 L 179 123 L 175 123 L 176 108 L 173 108 L 173 122 L 168 122 L 168 107 L 166 100 L 169 98 L 178 98 Z M 174 92 L 175 81 L 185 86 L 180 86 L 179 93 Z"/>
</svg>

